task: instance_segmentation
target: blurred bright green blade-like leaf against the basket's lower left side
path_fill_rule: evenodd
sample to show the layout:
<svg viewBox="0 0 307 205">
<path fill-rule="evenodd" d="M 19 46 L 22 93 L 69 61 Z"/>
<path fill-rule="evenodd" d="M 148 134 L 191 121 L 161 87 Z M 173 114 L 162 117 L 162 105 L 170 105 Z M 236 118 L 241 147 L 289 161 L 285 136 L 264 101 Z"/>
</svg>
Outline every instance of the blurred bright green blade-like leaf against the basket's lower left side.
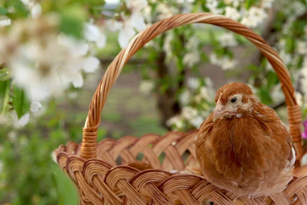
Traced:
<svg viewBox="0 0 307 205">
<path fill-rule="evenodd" d="M 55 165 L 52 165 L 53 180 L 58 193 L 59 205 L 77 205 L 78 195 L 72 181 Z"/>
</svg>

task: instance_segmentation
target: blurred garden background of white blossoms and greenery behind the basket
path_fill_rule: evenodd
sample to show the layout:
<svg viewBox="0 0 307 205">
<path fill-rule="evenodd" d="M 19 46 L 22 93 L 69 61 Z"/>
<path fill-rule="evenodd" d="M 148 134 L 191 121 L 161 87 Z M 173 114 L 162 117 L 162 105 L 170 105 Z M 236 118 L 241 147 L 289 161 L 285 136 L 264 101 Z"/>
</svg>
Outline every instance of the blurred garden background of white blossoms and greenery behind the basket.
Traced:
<svg viewBox="0 0 307 205">
<path fill-rule="evenodd" d="M 1 204 L 77 204 L 53 150 L 81 141 L 99 81 L 128 41 L 187 12 L 226 15 L 267 40 L 289 68 L 306 118 L 305 0 L 0 0 Z M 195 24 L 158 36 L 131 58 L 108 95 L 98 140 L 198 129 L 215 91 L 230 81 L 252 87 L 287 125 L 264 56 L 241 36 Z"/>
</svg>

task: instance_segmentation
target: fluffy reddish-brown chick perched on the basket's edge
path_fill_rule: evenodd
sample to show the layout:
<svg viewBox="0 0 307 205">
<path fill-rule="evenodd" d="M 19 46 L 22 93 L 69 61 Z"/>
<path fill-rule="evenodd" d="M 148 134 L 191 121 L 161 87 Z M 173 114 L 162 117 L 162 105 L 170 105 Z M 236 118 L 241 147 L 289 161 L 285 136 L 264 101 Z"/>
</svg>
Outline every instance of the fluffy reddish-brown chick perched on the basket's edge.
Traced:
<svg viewBox="0 0 307 205">
<path fill-rule="evenodd" d="M 242 83 L 218 89 L 215 104 L 196 139 L 206 179 L 238 196 L 284 190 L 292 179 L 295 151 L 276 112 Z"/>
</svg>

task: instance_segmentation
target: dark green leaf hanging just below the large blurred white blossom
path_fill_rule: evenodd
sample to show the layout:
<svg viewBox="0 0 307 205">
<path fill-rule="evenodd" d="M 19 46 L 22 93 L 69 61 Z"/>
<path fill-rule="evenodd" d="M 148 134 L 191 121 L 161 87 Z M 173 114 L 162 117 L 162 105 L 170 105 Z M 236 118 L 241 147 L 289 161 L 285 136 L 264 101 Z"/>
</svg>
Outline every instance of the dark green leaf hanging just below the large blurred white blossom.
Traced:
<svg viewBox="0 0 307 205">
<path fill-rule="evenodd" d="M 31 102 L 27 98 L 25 91 L 17 86 L 14 86 L 13 108 L 16 111 L 18 118 L 29 111 L 30 104 Z"/>
</svg>

